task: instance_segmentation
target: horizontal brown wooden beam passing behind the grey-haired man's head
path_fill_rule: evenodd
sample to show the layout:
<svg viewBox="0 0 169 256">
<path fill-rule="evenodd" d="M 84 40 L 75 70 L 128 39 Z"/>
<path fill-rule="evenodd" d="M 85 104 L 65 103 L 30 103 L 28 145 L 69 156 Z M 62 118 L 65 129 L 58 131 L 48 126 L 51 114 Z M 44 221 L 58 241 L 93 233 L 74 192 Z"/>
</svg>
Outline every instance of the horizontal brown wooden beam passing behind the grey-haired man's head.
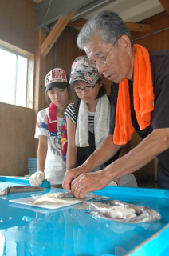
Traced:
<svg viewBox="0 0 169 256">
<path fill-rule="evenodd" d="M 68 23 L 67 26 L 83 27 L 86 22 L 87 22 L 86 19 L 79 18 L 75 22 Z M 135 31 L 135 32 L 144 32 L 144 31 L 147 31 L 147 30 L 151 29 L 151 25 L 148 25 L 148 24 L 140 24 L 140 23 L 125 23 L 125 24 L 128 27 L 128 30 Z"/>
</svg>

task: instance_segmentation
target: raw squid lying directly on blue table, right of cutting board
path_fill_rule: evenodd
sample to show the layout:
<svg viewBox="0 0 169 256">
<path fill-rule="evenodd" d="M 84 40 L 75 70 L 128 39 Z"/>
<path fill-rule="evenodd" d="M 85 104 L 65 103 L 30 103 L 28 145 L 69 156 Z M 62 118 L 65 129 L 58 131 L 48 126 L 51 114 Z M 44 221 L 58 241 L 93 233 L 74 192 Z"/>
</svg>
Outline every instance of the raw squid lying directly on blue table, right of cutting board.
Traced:
<svg viewBox="0 0 169 256">
<path fill-rule="evenodd" d="M 160 214 L 148 206 L 136 206 L 119 200 L 103 202 L 83 202 L 76 209 L 93 210 L 94 216 L 115 222 L 140 223 L 160 220 Z"/>
</svg>

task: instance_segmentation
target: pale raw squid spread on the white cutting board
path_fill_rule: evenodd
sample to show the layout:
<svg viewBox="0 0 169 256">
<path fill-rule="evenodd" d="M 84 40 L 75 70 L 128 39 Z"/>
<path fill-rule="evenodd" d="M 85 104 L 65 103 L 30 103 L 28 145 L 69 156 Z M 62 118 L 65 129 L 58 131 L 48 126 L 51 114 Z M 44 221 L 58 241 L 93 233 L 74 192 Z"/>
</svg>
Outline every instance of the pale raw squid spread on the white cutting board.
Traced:
<svg viewBox="0 0 169 256">
<path fill-rule="evenodd" d="M 88 199 L 100 199 L 101 197 L 88 193 L 85 195 L 85 200 Z M 102 197 L 106 198 L 106 197 Z M 73 204 L 73 203 L 79 203 L 84 202 L 83 199 L 78 199 L 73 196 L 72 193 L 53 193 L 53 194 L 43 194 L 41 198 L 38 198 L 35 200 L 32 205 L 42 205 L 42 204 Z"/>
</svg>

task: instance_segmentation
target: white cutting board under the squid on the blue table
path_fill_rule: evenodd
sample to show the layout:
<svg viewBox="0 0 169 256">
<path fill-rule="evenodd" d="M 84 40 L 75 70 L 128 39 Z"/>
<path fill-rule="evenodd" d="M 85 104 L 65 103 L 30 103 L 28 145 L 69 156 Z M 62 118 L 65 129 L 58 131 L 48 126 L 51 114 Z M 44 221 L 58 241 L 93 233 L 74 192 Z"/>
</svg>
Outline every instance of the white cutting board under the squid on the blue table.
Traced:
<svg viewBox="0 0 169 256">
<path fill-rule="evenodd" d="M 36 200 L 40 198 L 36 197 Z M 35 206 L 35 207 L 41 207 L 41 208 L 47 208 L 47 209 L 59 209 L 59 208 L 63 208 L 65 206 L 72 206 L 75 205 L 79 202 L 73 202 L 73 203 L 66 203 L 66 204 L 41 204 L 41 205 L 32 205 L 32 202 L 35 201 L 35 198 L 20 198 L 20 199 L 13 199 L 13 200 L 9 200 L 10 202 L 17 202 L 17 203 L 21 203 L 22 205 L 27 205 L 27 206 Z"/>
</svg>

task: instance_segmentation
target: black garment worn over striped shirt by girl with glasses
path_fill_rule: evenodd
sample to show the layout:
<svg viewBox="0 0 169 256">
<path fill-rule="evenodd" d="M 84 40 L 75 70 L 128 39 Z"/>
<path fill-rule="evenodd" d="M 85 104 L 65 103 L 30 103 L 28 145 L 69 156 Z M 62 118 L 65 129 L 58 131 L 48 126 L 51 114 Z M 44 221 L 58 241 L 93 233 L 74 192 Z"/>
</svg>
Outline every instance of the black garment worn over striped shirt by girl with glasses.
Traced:
<svg viewBox="0 0 169 256">
<path fill-rule="evenodd" d="M 80 102 L 75 102 L 76 126 L 77 126 L 77 118 L 79 113 L 79 106 L 80 106 Z M 89 156 L 96 150 L 94 129 L 93 129 L 93 132 L 88 130 L 88 144 L 89 146 L 77 147 L 76 167 L 81 166 L 89 158 Z M 120 150 L 111 159 L 109 159 L 107 162 L 104 162 L 104 165 L 105 166 L 110 165 L 112 162 L 118 159 L 119 154 L 120 154 Z"/>
</svg>

